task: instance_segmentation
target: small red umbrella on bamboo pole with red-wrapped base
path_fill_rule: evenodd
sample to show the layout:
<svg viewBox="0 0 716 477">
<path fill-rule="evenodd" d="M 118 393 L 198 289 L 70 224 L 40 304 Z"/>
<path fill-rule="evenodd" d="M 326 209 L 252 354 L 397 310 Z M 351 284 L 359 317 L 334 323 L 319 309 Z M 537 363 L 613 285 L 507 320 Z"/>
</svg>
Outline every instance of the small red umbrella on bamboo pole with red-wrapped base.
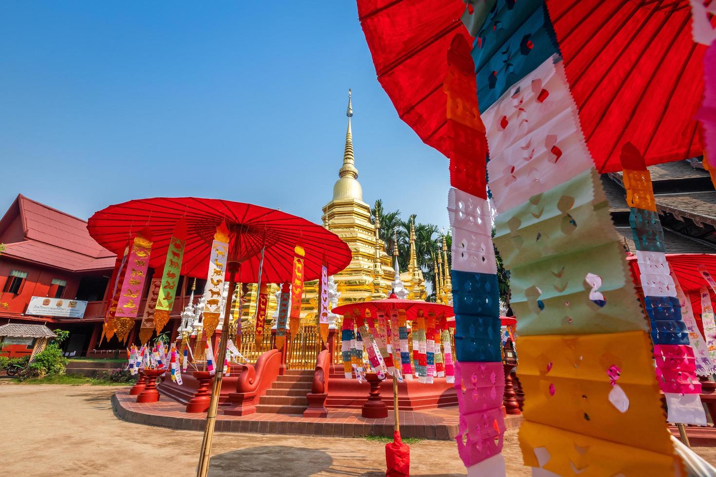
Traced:
<svg viewBox="0 0 716 477">
<path fill-rule="evenodd" d="M 334 308 L 332 313 L 336 315 L 347 315 L 348 313 L 365 313 L 368 310 L 371 314 L 377 311 L 390 312 L 390 310 L 405 310 L 408 320 L 415 320 L 417 312 L 435 313 L 435 315 L 443 315 L 446 318 L 455 315 L 453 307 L 448 305 L 440 305 L 439 303 L 430 303 L 421 300 L 401 300 L 395 293 L 385 300 L 372 300 L 367 302 L 349 303 Z M 393 380 L 393 441 L 385 445 L 385 461 L 387 464 L 386 476 L 403 477 L 410 476 L 410 446 L 400 438 L 400 422 L 398 420 L 398 381 Z"/>
</svg>

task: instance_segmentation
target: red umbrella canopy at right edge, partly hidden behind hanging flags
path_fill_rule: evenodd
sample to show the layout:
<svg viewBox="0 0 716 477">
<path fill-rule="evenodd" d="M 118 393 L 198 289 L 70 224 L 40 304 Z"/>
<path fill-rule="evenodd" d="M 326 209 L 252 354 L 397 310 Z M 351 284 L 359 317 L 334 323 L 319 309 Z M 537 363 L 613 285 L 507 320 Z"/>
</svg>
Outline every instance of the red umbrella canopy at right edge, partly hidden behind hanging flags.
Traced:
<svg viewBox="0 0 716 477">
<path fill-rule="evenodd" d="M 684 293 L 690 297 L 694 315 L 697 320 L 700 320 L 701 297 L 699 292 L 701 287 L 708 288 L 708 283 L 699 272 L 699 266 L 705 265 L 706 270 L 711 275 L 716 275 L 716 253 L 667 253 L 666 255 L 669 267 L 674 271 L 674 275 L 679 280 L 679 285 L 681 285 Z M 629 255 L 627 260 L 632 268 L 634 283 L 641 285 L 637 255 Z"/>
</svg>

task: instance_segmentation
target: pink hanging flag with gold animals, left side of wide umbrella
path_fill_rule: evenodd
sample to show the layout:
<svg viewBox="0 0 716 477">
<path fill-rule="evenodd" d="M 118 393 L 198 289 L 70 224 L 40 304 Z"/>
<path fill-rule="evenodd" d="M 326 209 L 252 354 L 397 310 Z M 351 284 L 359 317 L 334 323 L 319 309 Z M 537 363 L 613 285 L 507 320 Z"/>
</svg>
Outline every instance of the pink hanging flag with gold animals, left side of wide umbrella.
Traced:
<svg viewBox="0 0 716 477">
<path fill-rule="evenodd" d="M 147 277 L 149 256 L 152 252 L 152 232 L 146 227 L 135 237 L 127 257 L 127 270 L 115 313 L 117 339 L 127 340 L 139 312 L 142 290 Z"/>
</svg>

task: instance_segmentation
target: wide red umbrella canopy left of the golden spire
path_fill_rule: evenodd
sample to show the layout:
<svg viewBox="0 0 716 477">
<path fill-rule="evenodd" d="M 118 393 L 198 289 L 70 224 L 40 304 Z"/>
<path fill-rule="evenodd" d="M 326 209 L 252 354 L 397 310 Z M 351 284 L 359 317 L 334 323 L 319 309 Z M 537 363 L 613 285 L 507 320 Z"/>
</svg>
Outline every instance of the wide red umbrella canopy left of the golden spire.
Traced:
<svg viewBox="0 0 716 477">
<path fill-rule="evenodd" d="M 144 227 L 153 234 L 150 267 L 163 267 L 170 237 L 178 220 L 187 223 L 187 242 L 181 273 L 205 278 L 216 226 L 226 222 L 230 232 L 228 259 L 241 262 L 238 282 L 256 282 L 261 251 L 261 281 L 289 282 L 293 273 L 294 248 L 306 251 L 304 279 L 321 276 L 326 265 L 329 275 L 343 270 L 351 251 L 333 232 L 313 222 L 243 202 L 197 197 L 154 197 L 110 205 L 89 217 L 87 230 L 107 250 L 124 252 L 127 240 Z"/>
</svg>

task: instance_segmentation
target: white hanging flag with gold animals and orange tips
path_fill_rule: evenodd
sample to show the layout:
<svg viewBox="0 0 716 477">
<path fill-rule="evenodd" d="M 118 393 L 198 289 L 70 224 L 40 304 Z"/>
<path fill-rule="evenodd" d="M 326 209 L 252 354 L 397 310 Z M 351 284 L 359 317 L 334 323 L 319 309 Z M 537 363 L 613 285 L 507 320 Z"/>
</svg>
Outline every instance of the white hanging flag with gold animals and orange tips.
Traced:
<svg viewBox="0 0 716 477">
<path fill-rule="evenodd" d="M 221 317 L 221 294 L 226 275 L 226 255 L 228 253 L 228 228 L 224 222 L 216 227 L 214 241 L 211 244 L 209 271 L 204 287 L 204 335 L 210 339 L 219 325 Z"/>
</svg>

